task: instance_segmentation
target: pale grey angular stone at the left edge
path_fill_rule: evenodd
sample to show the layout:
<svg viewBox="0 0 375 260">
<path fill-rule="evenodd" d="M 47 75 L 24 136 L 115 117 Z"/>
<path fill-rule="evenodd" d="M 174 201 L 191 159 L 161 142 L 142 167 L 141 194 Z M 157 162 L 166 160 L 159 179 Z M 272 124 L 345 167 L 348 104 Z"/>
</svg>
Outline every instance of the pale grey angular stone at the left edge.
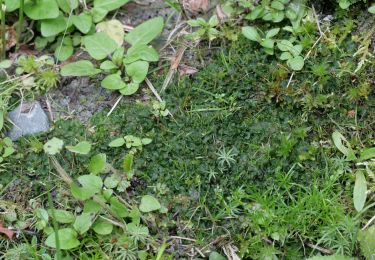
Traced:
<svg viewBox="0 0 375 260">
<path fill-rule="evenodd" d="M 37 101 L 19 105 L 8 117 L 14 125 L 7 135 L 13 141 L 24 135 L 47 132 L 50 128 L 48 117 Z"/>
</svg>

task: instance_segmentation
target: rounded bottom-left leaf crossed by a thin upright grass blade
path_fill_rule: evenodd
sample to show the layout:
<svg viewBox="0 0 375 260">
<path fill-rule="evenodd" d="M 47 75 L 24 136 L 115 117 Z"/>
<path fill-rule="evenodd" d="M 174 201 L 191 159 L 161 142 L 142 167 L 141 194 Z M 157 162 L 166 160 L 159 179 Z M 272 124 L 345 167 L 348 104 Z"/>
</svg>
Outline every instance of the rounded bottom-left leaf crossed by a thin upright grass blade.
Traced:
<svg viewBox="0 0 375 260">
<path fill-rule="evenodd" d="M 57 231 L 59 242 L 60 242 L 60 249 L 69 250 L 76 248 L 80 245 L 80 242 L 77 239 L 77 232 L 74 231 L 72 228 L 63 228 Z M 56 248 L 56 233 L 53 232 L 50 234 L 46 241 L 46 246 L 51 248 Z"/>
</svg>

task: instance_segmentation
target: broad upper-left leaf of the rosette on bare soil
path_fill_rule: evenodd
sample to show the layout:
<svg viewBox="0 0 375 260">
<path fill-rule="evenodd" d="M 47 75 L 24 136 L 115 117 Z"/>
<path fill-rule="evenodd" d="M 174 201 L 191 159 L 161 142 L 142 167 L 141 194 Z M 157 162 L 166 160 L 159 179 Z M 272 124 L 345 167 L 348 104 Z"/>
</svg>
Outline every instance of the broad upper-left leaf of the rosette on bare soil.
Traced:
<svg viewBox="0 0 375 260">
<path fill-rule="evenodd" d="M 83 38 L 87 52 L 96 60 L 102 60 L 117 49 L 117 43 L 106 33 L 98 32 Z"/>
</svg>

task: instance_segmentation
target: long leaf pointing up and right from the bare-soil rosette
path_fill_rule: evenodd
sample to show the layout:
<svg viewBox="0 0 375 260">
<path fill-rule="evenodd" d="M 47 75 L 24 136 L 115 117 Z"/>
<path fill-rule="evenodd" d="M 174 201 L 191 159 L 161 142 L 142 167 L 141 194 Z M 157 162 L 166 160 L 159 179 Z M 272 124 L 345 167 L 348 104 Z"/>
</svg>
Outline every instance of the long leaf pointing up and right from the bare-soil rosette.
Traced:
<svg viewBox="0 0 375 260">
<path fill-rule="evenodd" d="M 125 41 L 131 45 L 148 44 L 163 31 L 164 20 L 155 17 L 138 25 L 125 36 Z"/>
</svg>

